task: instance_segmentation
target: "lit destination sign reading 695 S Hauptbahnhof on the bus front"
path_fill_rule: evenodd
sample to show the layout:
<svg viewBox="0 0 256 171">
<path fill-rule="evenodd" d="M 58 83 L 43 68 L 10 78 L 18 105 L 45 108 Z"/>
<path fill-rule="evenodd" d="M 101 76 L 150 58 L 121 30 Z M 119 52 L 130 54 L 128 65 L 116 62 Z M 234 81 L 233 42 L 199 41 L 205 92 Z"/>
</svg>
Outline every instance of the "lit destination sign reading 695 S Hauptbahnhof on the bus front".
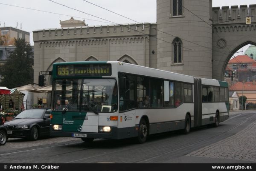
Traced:
<svg viewBox="0 0 256 171">
<path fill-rule="evenodd" d="M 57 66 L 57 76 L 110 76 L 111 64 L 78 64 Z"/>
</svg>

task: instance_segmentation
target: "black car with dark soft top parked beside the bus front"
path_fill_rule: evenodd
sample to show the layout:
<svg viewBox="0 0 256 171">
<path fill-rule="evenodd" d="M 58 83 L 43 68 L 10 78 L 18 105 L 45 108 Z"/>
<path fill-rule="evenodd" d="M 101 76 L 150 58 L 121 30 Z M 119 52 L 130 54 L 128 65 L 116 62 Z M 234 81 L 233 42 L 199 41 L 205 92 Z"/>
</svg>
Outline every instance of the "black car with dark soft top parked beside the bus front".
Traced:
<svg viewBox="0 0 256 171">
<path fill-rule="evenodd" d="M 4 123 L 9 138 L 37 140 L 50 134 L 50 109 L 28 109 Z"/>
</svg>

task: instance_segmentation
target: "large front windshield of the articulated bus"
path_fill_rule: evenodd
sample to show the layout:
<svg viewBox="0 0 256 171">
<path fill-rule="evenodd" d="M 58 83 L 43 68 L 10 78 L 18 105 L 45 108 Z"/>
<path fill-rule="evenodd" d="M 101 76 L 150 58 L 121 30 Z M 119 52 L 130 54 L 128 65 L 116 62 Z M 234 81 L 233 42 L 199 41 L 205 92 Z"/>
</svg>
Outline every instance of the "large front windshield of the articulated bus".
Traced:
<svg viewBox="0 0 256 171">
<path fill-rule="evenodd" d="M 55 111 L 116 112 L 114 79 L 61 79 L 53 81 Z"/>
</svg>

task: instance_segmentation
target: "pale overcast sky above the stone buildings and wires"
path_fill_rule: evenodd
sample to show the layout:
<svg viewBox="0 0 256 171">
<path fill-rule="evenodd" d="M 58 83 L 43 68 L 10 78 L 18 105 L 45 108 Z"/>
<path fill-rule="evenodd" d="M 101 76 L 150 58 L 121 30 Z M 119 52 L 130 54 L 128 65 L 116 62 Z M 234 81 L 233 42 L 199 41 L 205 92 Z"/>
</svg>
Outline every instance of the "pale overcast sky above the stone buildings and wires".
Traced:
<svg viewBox="0 0 256 171">
<path fill-rule="evenodd" d="M 140 23 L 156 22 L 156 0 L 86 0 L 105 9 L 122 14 Z M 113 23 L 136 23 L 120 17 L 105 9 L 94 6 L 85 0 L 0 0 L 1 27 L 11 26 L 30 32 L 30 43 L 33 43 L 32 31 L 48 28 L 60 28 L 60 20 L 85 20 L 89 26 L 108 25 Z M 69 6 L 73 10 L 57 3 Z M 136 5 L 134 5 L 136 4 Z M 212 7 L 256 4 L 255 0 L 212 0 Z M 10 6 L 11 5 L 11 6 Z M 19 6 L 19 7 L 17 7 Z M 20 8 L 23 7 L 23 8 Z M 35 10 L 31 10 L 35 9 Z M 37 11 L 41 10 L 41 11 Z M 45 12 L 48 11 L 48 12 Z M 53 14 L 56 13 L 56 14 Z M 87 13 L 87 14 L 85 14 Z M 88 14 L 101 17 L 105 21 Z M 113 23 L 110 23 L 113 22 Z M 245 50 L 244 48 L 243 50 Z M 241 50 L 239 50 L 241 51 Z M 237 53 L 238 54 L 238 53 Z"/>
</svg>

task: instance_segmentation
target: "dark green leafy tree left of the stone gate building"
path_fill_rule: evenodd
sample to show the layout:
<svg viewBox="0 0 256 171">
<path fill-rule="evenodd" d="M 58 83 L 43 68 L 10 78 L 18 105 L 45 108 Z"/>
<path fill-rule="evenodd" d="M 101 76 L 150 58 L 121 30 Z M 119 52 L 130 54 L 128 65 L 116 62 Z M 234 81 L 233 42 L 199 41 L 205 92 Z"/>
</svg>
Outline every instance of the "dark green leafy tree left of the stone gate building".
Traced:
<svg viewBox="0 0 256 171">
<path fill-rule="evenodd" d="M 3 76 L 1 86 L 15 88 L 33 84 L 33 54 L 32 48 L 25 39 L 15 39 L 15 50 L 10 53 L 5 64 L 0 66 Z"/>
</svg>

